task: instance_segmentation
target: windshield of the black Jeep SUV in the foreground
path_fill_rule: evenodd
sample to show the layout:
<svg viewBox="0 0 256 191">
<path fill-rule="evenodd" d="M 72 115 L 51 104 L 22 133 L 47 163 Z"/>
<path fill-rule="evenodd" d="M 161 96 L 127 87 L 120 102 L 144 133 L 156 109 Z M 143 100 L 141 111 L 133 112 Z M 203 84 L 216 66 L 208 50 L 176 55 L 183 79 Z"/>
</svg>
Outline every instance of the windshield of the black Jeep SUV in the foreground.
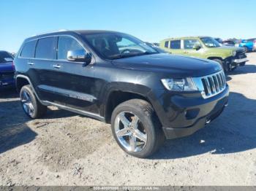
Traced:
<svg viewBox="0 0 256 191">
<path fill-rule="evenodd" d="M 86 34 L 85 38 L 99 55 L 107 59 L 158 53 L 145 42 L 127 34 Z"/>
</svg>

